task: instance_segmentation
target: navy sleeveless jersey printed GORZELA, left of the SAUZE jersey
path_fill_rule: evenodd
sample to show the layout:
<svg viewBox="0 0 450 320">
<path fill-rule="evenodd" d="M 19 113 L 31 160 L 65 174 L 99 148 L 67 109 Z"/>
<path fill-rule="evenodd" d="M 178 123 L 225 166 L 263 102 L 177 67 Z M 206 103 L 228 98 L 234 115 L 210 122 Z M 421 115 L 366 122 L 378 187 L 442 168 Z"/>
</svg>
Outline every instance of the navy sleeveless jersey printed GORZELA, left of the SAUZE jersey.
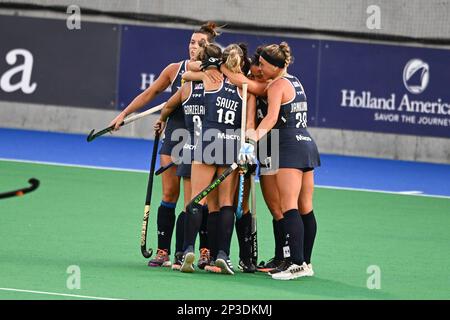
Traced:
<svg viewBox="0 0 450 320">
<path fill-rule="evenodd" d="M 191 93 L 182 104 L 184 123 L 191 135 L 199 136 L 202 130 L 203 117 L 205 115 L 203 82 L 190 82 Z"/>
</svg>

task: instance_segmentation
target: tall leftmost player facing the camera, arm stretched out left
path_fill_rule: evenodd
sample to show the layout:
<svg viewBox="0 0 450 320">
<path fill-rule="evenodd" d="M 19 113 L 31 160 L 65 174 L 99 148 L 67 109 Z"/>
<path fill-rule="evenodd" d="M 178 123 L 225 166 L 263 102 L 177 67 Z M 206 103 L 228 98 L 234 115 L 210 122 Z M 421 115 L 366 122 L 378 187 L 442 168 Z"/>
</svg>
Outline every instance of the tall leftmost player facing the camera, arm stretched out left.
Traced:
<svg viewBox="0 0 450 320">
<path fill-rule="evenodd" d="M 189 42 L 189 58 L 181 62 L 169 64 L 159 75 L 159 77 L 144 92 L 139 94 L 116 118 L 110 125 L 115 124 L 115 130 L 120 128 L 120 123 L 125 117 L 151 102 L 158 94 L 163 92 L 167 87 L 171 86 L 172 93 L 175 93 L 181 87 L 182 74 L 187 71 L 189 61 L 195 58 L 200 41 L 208 43 L 214 42 L 218 35 L 216 25 L 212 22 L 202 25 L 198 30 L 194 31 Z M 180 141 L 172 139 L 172 132 L 176 128 L 184 127 L 184 117 L 182 109 L 175 110 L 170 115 L 165 130 L 165 139 L 162 142 L 160 153 L 160 163 L 166 166 L 172 162 L 171 153 L 173 147 Z M 162 174 L 162 201 L 158 208 L 157 228 L 158 228 L 158 250 L 156 256 L 149 261 L 149 266 L 167 266 L 170 262 L 170 247 L 172 233 L 175 225 L 175 208 L 180 194 L 180 178 L 176 175 L 177 168 L 173 166 Z M 177 224 L 184 225 L 184 214 L 180 214 Z M 179 221 L 178 221 L 179 220 Z M 176 258 L 175 258 L 176 260 Z"/>
</svg>

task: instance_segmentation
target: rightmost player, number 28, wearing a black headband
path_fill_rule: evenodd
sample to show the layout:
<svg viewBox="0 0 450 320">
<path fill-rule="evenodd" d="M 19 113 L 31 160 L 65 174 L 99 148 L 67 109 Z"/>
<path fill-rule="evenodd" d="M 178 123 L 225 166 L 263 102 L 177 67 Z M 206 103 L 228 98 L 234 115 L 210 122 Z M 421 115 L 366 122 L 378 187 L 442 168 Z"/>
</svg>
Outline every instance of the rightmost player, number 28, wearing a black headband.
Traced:
<svg viewBox="0 0 450 320">
<path fill-rule="evenodd" d="M 306 129 L 306 94 L 298 78 L 287 73 L 292 62 L 287 43 L 265 47 L 259 61 L 264 78 L 272 81 L 268 86 L 249 82 L 249 90 L 262 95 L 267 89 L 268 110 L 256 131 L 249 134 L 250 143 L 243 146 L 241 154 L 251 159 L 254 156 L 252 146 L 268 131 L 278 130 L 278 170 L 275 177 L 283 214 L 280 219 L 283 220 L 283 239 L 287 245 L 283 248 L 283 263 L 269 274 L 277 280 L 311 276 L 313 271 L 308 259 L 316 233 L 312 210 L 314 168 L 320 166 L 320 156 Z M 271 152 L 272 158 L 276 156 L 275 150 Z"/>
</svg>

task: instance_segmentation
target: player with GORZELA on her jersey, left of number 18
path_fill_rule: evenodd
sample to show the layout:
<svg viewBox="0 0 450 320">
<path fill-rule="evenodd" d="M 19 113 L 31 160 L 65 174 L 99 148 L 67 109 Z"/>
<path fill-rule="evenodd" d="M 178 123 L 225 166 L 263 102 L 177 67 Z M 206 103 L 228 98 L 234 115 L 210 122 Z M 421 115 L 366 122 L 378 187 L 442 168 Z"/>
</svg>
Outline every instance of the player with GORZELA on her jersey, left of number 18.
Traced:
<svg viewBox="0 0 450 320">
<path fill-rule="evenodd" d="M 203 60 L 203 57 L 222 57 L 222 50 L 220 47 L 214 44 L 206 46 L 201 44 L 198 50 L 196 60 Z M 181 214 L 185 214 L 186 206 L 191 200 L 191 163 L 194 157 L 194 150 L 197 148 L 198 139 L 201 135 L 203 117 L 205 115 L 204 95 L 203 95 L 203 83 L 199 81 L 186 82 L 183 86 L 166 102 L 164 108 L 161 111 L 159 120 L 155 123 L 154 129 L 159 133 L 162 133 L 166 126 L 167 118 L 177 108 L 181 108 L 184 115 L 185 128 L 180 132 L 183 135 L 183 145 L 181 149 L 181 155 L 174 155 L 177 159 L 181 160 L 177 168 L 177 176 L 183 178 L 183 190 L 184 190 L 184 211 Z M 177 134 L 179 131 L 175 132 Z M 210 214 L 218 213 L 219 207 L 214 197 L 208 197 L 208 206 L 202 208 L 202 225 L 200 229 L 200 259 L 197 266 L 200 269 L 204 269 L 206 265 L 210 263 L 210 251 L 209 245 L 206 242 L 208 237 L 202 236 L 203 230 L 207 233 L 207 216 L 208 210 Z M 182 256 L 183 256 L 183 241 L 184 241 L 184 222 L 178 219 L 175 228 L 176 245 L 175 245 L 175 261 L 172 264 L 173 270 L 179 270 L 181 268 Z"/>
</svg>

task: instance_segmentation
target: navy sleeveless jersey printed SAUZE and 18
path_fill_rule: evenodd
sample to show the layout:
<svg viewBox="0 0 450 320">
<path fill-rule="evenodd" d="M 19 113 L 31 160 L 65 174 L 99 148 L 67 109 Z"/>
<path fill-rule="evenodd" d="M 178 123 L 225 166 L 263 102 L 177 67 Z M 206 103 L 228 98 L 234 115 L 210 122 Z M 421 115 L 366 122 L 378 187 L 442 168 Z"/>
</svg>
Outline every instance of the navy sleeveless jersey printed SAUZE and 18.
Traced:
<svg viewBox="0 0 450 320">
<path fill-rule="evenodd" d="M 205 91 L 205 128 L 240 129 L 242 120 L 242 97 L 238 88 L 228 79 L 216 91 Z"/>
</svg>

